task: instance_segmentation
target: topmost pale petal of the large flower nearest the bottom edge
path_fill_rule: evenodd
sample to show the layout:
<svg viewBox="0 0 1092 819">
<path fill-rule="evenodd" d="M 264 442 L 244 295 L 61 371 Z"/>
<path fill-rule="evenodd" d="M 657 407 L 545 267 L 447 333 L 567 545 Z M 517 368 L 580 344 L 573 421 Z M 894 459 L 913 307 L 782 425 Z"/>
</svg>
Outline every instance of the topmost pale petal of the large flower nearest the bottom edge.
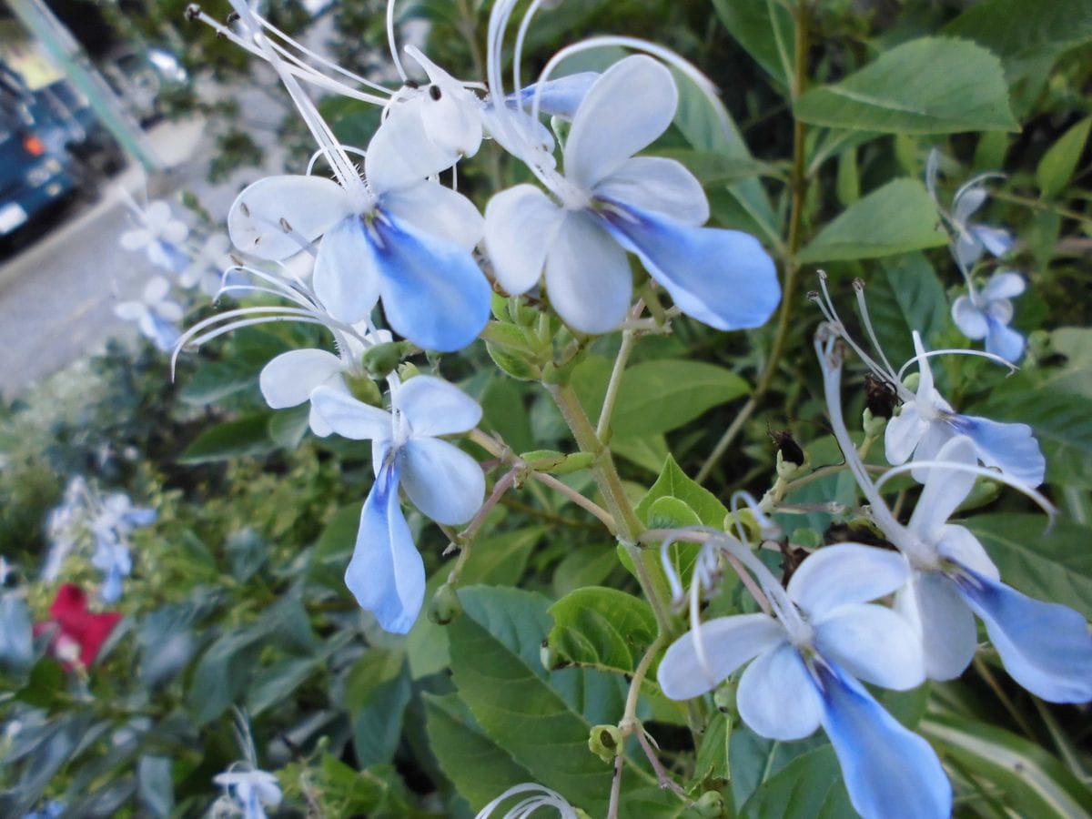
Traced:
<svg viewBox="0 0 1092 819">
<path fill-rule="evenodd" d="M 788 596 L 812 620 L 846 604 L 860 604 L 900 589 L 910 577 L 898 551 L 858 543 L 812 553 L 788 581 Z"/>
</svg>

